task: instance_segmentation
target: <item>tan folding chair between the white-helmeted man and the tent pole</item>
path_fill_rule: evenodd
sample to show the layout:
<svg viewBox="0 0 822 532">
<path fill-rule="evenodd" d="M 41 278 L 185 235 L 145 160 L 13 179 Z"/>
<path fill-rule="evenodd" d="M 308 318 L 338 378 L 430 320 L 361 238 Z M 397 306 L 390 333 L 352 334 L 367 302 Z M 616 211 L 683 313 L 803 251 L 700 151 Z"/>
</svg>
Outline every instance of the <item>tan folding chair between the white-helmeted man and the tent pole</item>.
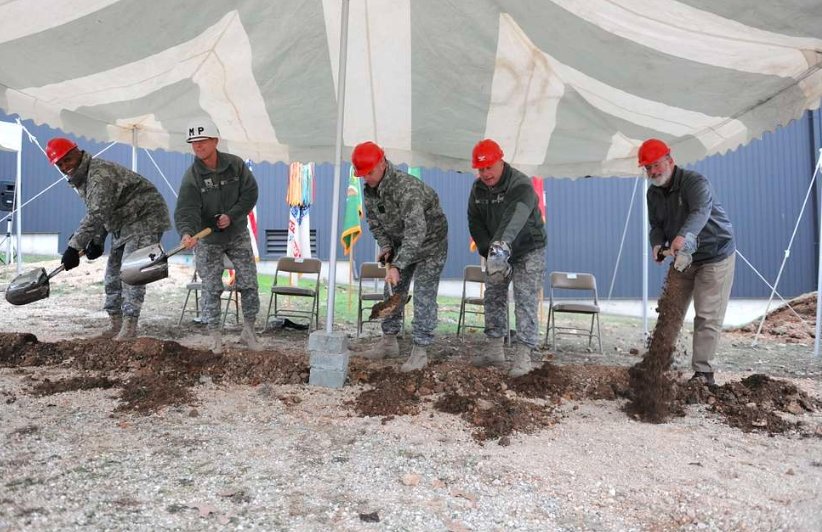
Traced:
<svg viewBox="0 0 822 532">
<path fill-rule="evenodd" d="M 314 328 L 320 327 L 320 271 L 322 270 L 322 261 L 318 259 L 295 259 L 293 257 L 282 257 L 277 261 L 277 272 L 274 274 L 274 285 L 271 287 L 271 297 L 268 299 L 268 312 L 265 316 L 265 325 L 263 330 L 268 327 L 268 319 L 272 316 L 279 318 L 281 316 L 289 316 L 292 318 L 308 319 L 308 326 L 311 329 L 312 322 Z M 280 285 L 280 274 L 287 273 L 289 276 L 293 273 L 316 276 L 314 279 L 313 288 L 300 288 L 299 286 Z M 306 297 L 311 298 L 311 307 L 305 310 L 299 307 L 281 308 L 279 299 L 281 297 Z M 271 306 L 274 306 L 274 312 L 271 312 Z"/>
</svg>

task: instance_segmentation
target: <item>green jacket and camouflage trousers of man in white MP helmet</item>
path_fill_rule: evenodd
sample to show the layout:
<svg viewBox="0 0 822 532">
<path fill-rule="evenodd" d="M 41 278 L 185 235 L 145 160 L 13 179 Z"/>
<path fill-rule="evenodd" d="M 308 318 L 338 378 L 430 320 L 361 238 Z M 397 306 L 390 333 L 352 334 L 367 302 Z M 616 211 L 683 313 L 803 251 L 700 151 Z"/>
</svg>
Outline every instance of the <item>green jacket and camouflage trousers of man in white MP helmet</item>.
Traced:
<svg viewBox="0 0 822 532">
<path fill-rule="evenodd" d="M 248 213 L 257 203 L 257 181 L 242 159 L 217 152 L 217 168 L 211 170 L 199 159 L 186 170 L 180 185 L 174 223 L 177 232 L 194 235 L 211 227 L 214 233 L 196 247 L 197 273 L 203 279 L 203 315 L 208 328 L 220 326 L 220 295 L 223 292 L 223 255 L 237 274 L 237 290 L 243 319 L 253 323 L 260 311 L 257 262 L 248 234 Z M 217 230 L 215 216 L 227 214 L 231 225 Z"/>
</svg>

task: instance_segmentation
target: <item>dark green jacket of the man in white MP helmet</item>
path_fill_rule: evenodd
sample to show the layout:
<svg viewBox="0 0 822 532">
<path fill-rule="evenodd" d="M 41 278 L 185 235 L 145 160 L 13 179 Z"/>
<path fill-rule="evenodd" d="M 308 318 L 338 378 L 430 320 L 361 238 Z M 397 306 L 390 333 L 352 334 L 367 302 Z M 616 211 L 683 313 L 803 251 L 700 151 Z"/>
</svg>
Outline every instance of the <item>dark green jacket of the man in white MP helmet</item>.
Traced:
<svg viewBox="0 0 822 532">
<path fill-rule="evenodd" d="M 226 244 L 248 231 L 248 213 L 257 204 L 257 195 L 254 174 L 236 155 L 218 151 L 214 170 L 195 158 L 180 184 L 174 225 L 181 237 L 210 227 L 214 232 L 204 242 Z M 217 230 L 218 214 L 231 218 L 227 229 Z"/>
</svg>

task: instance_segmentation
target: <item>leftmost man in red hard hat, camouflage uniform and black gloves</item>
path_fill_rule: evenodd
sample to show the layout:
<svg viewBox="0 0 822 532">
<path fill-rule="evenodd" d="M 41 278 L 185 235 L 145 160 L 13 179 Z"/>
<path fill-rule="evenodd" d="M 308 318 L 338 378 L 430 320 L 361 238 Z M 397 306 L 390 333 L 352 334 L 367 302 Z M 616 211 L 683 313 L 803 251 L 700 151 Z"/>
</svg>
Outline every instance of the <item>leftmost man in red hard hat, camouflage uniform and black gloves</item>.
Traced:
<svg viewBox="0 0 822 532">
<path fill-rule="evenodd" d="M 163 232 L 171 228 L 168 205 L 148 179 L 119 164 L 92 157 L 70 139 L 51 139 L 46 155 L 86 204 L 86 215 L 69 238 L 62 263 L 66 270 L 79 265 L 81 250 L 87 258 L 96 259 L 103 254 L 107 235 L 111 235 L 103 305 L 111 325 L 103 336 L 134 338 L 146 287 L 122 283 L 120 267 L 123 257 L 159 243 Z"/>
</svg>

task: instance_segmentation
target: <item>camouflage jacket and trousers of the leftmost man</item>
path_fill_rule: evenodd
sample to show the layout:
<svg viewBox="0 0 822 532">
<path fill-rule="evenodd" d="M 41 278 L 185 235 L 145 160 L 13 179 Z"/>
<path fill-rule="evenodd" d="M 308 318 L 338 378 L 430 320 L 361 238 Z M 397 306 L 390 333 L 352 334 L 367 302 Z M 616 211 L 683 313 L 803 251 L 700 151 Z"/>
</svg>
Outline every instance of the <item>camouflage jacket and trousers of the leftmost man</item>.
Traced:
<svg viewBox="0 0 822 532">
<path fill-rule="evenodd" d="M 78 250 L 92 241 L 102 245 L 111 234 L 103 308 L 112 316 L 139 317 L 146 287 L 121 283 L 120 266 L 124 256 L 157 244 L 171 228 L 166 200 L 148 179 L 86 152 L 69 184 L 83 198 L 86 215 L 68 245 Z"/>
</svg>

